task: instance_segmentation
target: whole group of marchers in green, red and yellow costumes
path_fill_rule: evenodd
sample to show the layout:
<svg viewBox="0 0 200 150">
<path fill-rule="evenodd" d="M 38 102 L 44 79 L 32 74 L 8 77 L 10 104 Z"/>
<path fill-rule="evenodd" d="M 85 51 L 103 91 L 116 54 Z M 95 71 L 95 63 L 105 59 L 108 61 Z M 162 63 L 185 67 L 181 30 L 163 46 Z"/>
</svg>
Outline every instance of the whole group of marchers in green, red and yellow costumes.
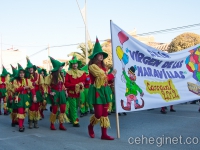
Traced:
<svg viewBox="0 0 200 150">
<path fill-rule="evenodd" d="M 33 65 L 28 57 L 25 69 L 20 64 L 18 68 L 11 65 L 13 74 L 3 67 L 0 100 L 4 103 L 4 115 L 10 111 L 12 127 L 18 125 L 19 131 L 24 132 L 26 115 L 29 128 L 39 128 L 38 120 L 44 118 L 43 111 L 50 104 L 50 129 L 56 130 L 58 120 L 59 129 L 66 130 L 65 122 L 72 123 L 73 127 L 80 126 L 77 115 L 80 108 L 80 117 L 88 112 L 92 114 L 88 125 L 91 138 L 95 137 L 94 125 L 100 123 L 101 139 L 113 140 L 107 135 L 107 128 L 110 127 L 108 115 L 115 111 L 113 82 L 116 70 L 108 72 L 103 61 L 107 57 L 97 39 L 88 65 L 82 67 L 81 61 L 73 56 L 67 72 L 63 69 L 65 63 L 50 56 L 53 69 L 49 75 L 45 69 Z"/>
</svg>

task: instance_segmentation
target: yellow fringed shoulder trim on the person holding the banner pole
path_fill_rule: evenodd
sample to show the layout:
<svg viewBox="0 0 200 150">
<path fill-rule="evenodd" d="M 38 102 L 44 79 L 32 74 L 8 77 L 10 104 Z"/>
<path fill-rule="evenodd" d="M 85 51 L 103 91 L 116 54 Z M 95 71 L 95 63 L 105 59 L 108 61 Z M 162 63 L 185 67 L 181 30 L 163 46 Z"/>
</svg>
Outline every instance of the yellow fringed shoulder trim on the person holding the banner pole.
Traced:
<svg viewBox="0 0 200 150">
<path fill-rule="evenodd" d="M 107 76 L 106 73 L 99 68 L 97 65 L 93 64 L 89 66 L 89 70 L 91 72 L 91 74 L 95 77 L 95 84 L 94 86 L 96 88 L 101 88 L 101 86 L 104 86 L 107 82 Z"/>
</svg>

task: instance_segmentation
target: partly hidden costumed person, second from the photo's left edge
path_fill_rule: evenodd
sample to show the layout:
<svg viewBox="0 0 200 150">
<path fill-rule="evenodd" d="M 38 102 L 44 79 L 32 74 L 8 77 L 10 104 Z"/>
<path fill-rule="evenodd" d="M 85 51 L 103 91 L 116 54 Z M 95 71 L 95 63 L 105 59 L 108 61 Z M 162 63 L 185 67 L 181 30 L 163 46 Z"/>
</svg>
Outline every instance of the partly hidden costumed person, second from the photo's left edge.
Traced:
<svg viewBox="0 0 200 150">
<path fill-rule="evenodd" d="M 13 74 L 11 75 L 11 78 L 10 78 L 10 84 L 7 88 L 7 106 L 8 108 L 12 109 L 12 112 L 11 112 L 11 119 L 12 119 L 12 123 L 11 123 L 11 126 L 12 127 L 15 127 L 15 125 L 18 125 L 18 119 L 17 119 L 17 103 L 14 102 L 14 87 L 13 87 L 13 81 L 14 81 L 14 77 L 17 75 L 17 69 L 14 68 L 12 65 L 11 65 L 11 68 L 12 68 L 12 72 Z"/>
</svg>

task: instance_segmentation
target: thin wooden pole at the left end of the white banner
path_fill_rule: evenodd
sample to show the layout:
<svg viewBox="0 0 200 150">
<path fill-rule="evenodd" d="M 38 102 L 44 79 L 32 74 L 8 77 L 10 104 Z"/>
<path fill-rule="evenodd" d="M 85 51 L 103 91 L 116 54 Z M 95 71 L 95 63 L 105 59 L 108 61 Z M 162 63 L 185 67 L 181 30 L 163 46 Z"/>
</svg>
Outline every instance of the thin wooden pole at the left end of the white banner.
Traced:
<svg viewBox="0 0 200 150">
<path fill-rule="evenodd" d="M 114 50 L 113 50 L 113 42 L 112 42 L 112 27 L 111 27 L 111 23 L 112 23 L 112 20 L 110 20 L 110 32 L 111 32 L 111 47 L 112 47 L 112 61 L 114 60 Z M 115 64 L 114 64 L 114 61 L 113 61 L 113 68 L 115 68 Z M 116 86 L 115 86 L 115 81 L 114 81 L 114 89 L 116 91 Z M 116 92 L 115 93 L 115 98 L 116 98 Z M 116 108 L 116 127 L 117 127 L 117 138 L 119 139 L 120 138 L 120 129 L 119 129 L 119 115 L 118 115 L 118 111 L 117 111 L 117 102 L 115 101 L 115 108 Z"/>
</svg>

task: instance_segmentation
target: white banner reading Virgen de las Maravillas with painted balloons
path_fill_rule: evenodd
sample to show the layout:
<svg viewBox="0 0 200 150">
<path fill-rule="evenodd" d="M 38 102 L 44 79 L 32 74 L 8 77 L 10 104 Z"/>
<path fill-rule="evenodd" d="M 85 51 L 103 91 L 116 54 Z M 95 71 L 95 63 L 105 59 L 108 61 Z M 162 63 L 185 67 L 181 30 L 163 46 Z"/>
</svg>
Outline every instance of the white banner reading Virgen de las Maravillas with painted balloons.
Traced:
<svg viewBox="0 0 200 150">
<path fill-rule="evenodd" d="M 111 22 L 117 112 L 175 105 L 200 96 L 200 44 L 176 53 L 152 48 Z"/>
</svg>

